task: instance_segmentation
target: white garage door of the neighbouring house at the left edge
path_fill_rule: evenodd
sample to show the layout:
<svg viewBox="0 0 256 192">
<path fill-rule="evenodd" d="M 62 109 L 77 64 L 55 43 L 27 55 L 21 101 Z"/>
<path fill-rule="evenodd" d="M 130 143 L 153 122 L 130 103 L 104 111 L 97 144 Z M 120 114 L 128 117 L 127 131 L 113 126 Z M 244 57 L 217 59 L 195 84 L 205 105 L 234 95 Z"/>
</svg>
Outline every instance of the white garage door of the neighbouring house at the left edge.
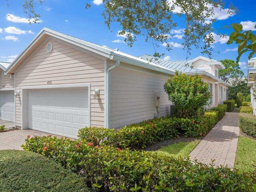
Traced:
<svg viewBox="0 0 256 192">
<path fill-rule="evenodd" d="M 14 122 L 14 91 L 0 91 L 0 119 Z"/>
</svg>

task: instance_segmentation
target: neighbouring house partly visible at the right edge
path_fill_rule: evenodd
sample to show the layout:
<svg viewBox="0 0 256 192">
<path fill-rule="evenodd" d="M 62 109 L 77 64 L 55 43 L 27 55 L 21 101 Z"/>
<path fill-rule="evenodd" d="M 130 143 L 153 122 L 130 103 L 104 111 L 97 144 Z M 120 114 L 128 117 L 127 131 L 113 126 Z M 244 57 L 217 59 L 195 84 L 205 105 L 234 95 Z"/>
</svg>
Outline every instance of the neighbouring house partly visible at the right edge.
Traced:
<svg viewBox="0 0 256 192">
<path fill-rule="evenodd" d="M 248 87 L 251 88 L 251 105 L 253 109 L 253 114 L 256 115 L 256 101 L 252 94 L 252 89 L 256 88 L 256 57 L 251 58 L 247 61 L 248 67 Z"/>
</svg>

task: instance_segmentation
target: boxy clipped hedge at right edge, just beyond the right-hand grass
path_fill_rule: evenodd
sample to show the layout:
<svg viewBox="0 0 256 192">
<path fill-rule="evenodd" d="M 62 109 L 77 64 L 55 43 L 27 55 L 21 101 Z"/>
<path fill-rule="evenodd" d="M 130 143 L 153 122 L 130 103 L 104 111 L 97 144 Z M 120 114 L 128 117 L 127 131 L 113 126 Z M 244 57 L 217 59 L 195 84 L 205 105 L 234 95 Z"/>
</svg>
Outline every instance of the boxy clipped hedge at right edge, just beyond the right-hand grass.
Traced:
<svg viewBox="0 0 256 192">
<path fill-rule="evenodd" d="M 250 113 L 240 113 L 238 120 L 242 132 L 256 137 L 256 116 Z"/>
</svg>

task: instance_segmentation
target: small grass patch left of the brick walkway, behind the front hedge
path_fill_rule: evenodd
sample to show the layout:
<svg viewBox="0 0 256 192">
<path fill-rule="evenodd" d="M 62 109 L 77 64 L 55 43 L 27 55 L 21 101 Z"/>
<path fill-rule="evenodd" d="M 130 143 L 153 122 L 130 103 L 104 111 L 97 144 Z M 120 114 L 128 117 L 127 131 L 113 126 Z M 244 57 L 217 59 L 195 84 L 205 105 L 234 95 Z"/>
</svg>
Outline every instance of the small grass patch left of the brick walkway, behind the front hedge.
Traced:
<svg viewBox="0 0 256 192">
<path fill-rule="evenodd" d="M 188 156 L 190 152 L 192 152 L 192 150 L 198 145 L 199 142 L 200 140 L 190 141 L 190 142 L 178 142 L 178 143 L 160 148 L 156 152 L 163 153 L 168 156 L 185 157 L 185 156 Z"/>
</svg>

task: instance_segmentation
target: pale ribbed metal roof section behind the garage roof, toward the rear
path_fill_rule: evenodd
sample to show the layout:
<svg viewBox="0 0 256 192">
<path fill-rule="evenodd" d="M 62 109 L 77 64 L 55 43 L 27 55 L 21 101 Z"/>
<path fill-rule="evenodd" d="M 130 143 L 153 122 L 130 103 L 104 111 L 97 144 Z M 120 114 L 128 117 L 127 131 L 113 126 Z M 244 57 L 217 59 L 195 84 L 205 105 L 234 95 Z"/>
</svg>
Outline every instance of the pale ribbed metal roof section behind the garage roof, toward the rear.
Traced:
<svg viewBox="0 0 256 192">
<path fill-rule="evenodd" d="M 190 66 L 185 66 L 185 61 L 188 62 L 187 60 L 184 61 L 168 61 L 168 60 L 163 60 L 163 59 L 159 59 L 159 58 L 155 58 L 149 55 L 142 55 L 139 58 L 158 64 L 160 66 L 166 67 L 170 70 L 173 71 L 180 71 L 180 72 L 184 72 L 184 73 L 188 73 L 188 72 L 203 72 L 204 70 L 199 70 L 196 68 L 191 68 Z"/>
</svg>

